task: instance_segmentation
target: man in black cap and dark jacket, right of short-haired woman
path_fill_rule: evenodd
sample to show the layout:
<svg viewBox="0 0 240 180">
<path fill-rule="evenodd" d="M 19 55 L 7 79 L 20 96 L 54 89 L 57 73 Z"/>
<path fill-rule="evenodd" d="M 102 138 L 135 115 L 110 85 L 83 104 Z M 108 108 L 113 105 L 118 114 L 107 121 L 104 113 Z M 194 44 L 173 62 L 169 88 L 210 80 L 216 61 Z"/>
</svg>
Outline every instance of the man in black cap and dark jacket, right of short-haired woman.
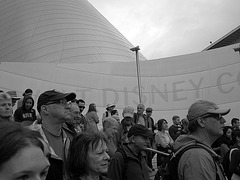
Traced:
<svg viewBox="0 0 240 180">
<path fill-rule="evenodd" d="M 110 161 L 108 177 L 114 180 L 150 180 L 144 150 L 153 133 L 145 126 L 133 125 L 128 132 L 129 143 L 118 149 Z"/>
</svg>

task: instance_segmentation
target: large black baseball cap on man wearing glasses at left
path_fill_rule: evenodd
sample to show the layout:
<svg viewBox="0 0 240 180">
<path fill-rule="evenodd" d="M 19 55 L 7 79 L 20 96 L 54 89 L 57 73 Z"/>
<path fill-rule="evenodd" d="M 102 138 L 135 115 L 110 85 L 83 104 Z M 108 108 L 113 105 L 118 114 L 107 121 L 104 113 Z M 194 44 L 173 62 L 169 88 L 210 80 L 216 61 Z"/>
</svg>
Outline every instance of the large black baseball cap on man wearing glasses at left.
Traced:
<svg viewBox="0 0 240 180">
<path fill-rule="evenodd" d="M 76 94 L 73 92 L 62 93 L 56 90 L 45 91 L 38 97 L 37 109 L 39 111 L 42 105 L 45 105 L 52 101 L 58 101 L 64 98 L 66 98 L 67 101 L 71 101 L 76 98 Z"/>
</svg>

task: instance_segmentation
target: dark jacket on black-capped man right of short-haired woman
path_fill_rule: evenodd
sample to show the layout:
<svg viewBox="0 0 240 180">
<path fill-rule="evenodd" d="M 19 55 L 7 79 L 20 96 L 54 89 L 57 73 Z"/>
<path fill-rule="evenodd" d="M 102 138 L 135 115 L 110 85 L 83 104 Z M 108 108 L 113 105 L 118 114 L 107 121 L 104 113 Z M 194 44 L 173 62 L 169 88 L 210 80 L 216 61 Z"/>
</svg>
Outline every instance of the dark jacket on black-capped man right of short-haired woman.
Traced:
<svg viewBox="0 0 240 180">
<path fill-rule="evenodd" d="M 144 152 L 140 152 L 137 157 L 127 145 L 123 145 L 122 150 L 125 158 L 120 151 L 115 153 L 107 177 L 112 180 L 150 180 Z"/>
</svg>

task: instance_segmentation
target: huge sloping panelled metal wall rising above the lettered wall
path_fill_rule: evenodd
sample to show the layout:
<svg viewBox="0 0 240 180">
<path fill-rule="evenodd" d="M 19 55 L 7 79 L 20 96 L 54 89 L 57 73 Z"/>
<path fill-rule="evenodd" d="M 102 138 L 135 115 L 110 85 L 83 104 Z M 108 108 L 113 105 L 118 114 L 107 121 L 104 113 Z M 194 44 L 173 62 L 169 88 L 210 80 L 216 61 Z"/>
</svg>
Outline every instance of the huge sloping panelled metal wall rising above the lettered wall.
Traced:
<svg viewBox="0 0 240 180">
<path fill-rule="evenodd" d="M 86 0 L 0 0 L 0 62 L 129 62 L 132 47 Z"/>
</svg>

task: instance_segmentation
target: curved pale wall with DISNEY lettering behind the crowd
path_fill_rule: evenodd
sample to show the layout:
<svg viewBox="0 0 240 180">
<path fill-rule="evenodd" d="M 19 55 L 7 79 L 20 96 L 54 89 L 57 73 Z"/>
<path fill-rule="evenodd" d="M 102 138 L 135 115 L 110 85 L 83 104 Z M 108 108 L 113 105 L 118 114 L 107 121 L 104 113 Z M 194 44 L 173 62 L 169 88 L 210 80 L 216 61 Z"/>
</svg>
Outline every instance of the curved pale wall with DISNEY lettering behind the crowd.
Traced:
<svg viewBox="0 0 240 180">
<path fill-rule="evenodd" d="M 198 99 L 231 108 L 228 124 L 233 117 L 240 117 L 240 55 L 233 51 L 237 46 L 142 61 L 143 103 L 154 109 L 154 119 L 166 118 L 171 124 L 173 115 L 186 117 L 187 109 Z M 100 117 L 108 103 L 115 103 L 120 114 L 128 105 L 136 110 L 138 103 L 135 62 L 3 62 L 0 85 L 0 89 L 17 90 L 19 95 L 32 88 L 35 100 L 49 89 L 73 91 L 87 104 L 95 102 Z"/>
</svg>

